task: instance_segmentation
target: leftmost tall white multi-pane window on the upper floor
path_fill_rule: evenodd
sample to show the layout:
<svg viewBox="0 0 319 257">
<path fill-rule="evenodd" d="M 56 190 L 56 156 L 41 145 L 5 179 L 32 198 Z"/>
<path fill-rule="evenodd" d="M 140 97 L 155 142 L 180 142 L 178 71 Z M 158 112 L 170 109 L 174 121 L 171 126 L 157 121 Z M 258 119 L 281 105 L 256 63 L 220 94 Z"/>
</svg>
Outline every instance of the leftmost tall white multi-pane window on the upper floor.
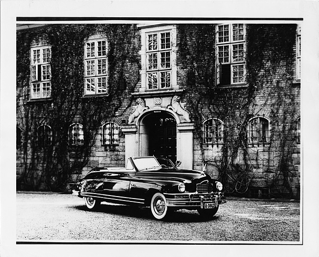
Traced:
<svg viewBox="0 0 319 257">
<path fill-rule="evenodd" d="M 31 48 L 31 99 L 51 96 L 51 46 Z"/>
</svg>

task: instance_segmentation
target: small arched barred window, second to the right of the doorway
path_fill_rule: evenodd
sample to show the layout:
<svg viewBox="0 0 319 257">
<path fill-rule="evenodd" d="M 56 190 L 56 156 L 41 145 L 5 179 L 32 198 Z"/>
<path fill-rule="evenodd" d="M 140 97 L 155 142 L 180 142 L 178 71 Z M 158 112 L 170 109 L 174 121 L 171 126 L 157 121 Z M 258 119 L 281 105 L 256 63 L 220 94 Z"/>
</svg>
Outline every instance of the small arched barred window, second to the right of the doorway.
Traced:
<svg viewBox="0 0 319 257">
<path fill-rule="evenodd" d="M 248 143 L 265 144 L 269 143 L 269 121 L 264 117 L 254 117 L 248 123 Z"/>
</svg>

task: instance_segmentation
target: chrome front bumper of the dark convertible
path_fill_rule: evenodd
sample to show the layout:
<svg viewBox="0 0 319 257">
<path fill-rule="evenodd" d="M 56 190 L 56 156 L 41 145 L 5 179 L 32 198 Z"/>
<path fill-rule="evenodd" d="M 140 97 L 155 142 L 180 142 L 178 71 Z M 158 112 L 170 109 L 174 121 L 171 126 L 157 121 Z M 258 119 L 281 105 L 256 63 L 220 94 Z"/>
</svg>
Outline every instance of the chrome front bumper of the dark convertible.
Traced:
<svg viewBox="0 0 319 257">
<path fill-rule="evenodd" d="M 205 203 L 214 203 L 215 206 L 227 202 L 224 194 L 218 193 L 185 193 L 185 194 L 164 194 L 168 207 L 180 207 L 180 208 L 204 208 Z"/>
</svg>

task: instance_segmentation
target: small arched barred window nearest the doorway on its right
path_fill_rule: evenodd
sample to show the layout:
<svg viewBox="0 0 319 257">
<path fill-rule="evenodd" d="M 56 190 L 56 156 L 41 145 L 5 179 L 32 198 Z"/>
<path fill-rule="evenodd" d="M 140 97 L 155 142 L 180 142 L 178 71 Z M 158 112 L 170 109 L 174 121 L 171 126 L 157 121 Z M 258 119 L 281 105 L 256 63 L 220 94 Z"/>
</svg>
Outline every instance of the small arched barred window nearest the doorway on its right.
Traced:
<svg viewBox="0 0 319 257">
<path fill-rule="evenodd" d="M 208 124 L 208 128 L 211 129 L 210 132 L 207 131 L 207 123 L 212 121 L 212 126 L 210 126 L 210 124 Z M 218 122 L 219 124 L 216 124 L 216 122 Z M 216 140 L 216 125 L 217 125 L 217 135 L 219 135 L 219 133 L 221 133 L 220 136 L 217 136 L 217 138 L 219 138 L 220 140 Z M 224 122 L 218 118 L 208 118 L 203 122 L 203 144 L 211 144 L 211 145 L 220 145 L 224 143 Z M 219 129 L 219 126 L 221 127 Z M 207 137 L 207 133 L 209 133 L 209 136 Z M 209 139 L 209 140 L 207 140 Z M 211 140 L 211 141 L 210 141 Z"/>
</svg>

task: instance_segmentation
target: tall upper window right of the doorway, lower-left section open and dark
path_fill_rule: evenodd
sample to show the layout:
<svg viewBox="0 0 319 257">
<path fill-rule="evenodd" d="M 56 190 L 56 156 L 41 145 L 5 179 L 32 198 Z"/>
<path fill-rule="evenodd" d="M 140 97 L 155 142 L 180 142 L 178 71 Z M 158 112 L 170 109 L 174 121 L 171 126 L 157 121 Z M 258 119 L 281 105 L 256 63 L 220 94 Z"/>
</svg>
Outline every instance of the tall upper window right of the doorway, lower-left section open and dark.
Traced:
<svg viewBox="0 0 319 257">
<path fill-rule="evenodd" d="M 219 42 L 219 28 L 223 28 L 228 25 L 228 40 L 225 40 L 223 36 L 223 41 Z M 242 25 L 242 39 L 235 40 L 234 36 L 234 25 Z M 215 39 L 215 49 L 216 49 L 216 58 L 215 58 L 215 69 L 216 69 L 216 86 L 244 86 L 246 85 L 246 24 L 244 23 L 230 23 L 230 24 L 217 24 L 216 27 L 216 39 Z M 225 31 L 225 30 L 222 30 Z M 224 32 L 223 32 L 224 33 Z M 242 48 L 235 49 L 235 46 L 242 45 Z M 228 50 L 225 50 L 225 47 Z M 220 51 L 222 50 L 222 51 Z M 236 55 L 235 53 L 238 53 Z M 220 55 L 222 53 L 222 56 Z M 236 60 L 236 58 L 241 58 Z M 224 61 L 225 59 L 225 61 Z M 222 60 L 223 62 L 220 62 Z M 242 66 L 240 70 L 241 76 L 235 77 L 235 74 L 238 72 L 235 70 L 236 67 Z M 235 79 L 238 78 L 238 81 Z"/>
</svg>

